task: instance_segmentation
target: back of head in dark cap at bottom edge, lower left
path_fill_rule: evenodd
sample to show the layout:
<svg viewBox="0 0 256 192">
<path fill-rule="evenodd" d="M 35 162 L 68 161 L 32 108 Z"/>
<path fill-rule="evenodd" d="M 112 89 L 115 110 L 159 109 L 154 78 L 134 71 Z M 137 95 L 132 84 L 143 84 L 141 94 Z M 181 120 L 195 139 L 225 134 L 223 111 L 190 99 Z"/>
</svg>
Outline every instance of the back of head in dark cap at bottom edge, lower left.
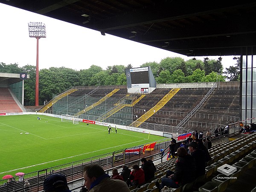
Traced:
<svg viewBox="0 0 256 192">
<path fill-rule="evenodd" d="M 62 174 L 53 174 L 44 180 L 44 192 L 71 192 L 67 186 L 67 178 Z"/>
</svg>

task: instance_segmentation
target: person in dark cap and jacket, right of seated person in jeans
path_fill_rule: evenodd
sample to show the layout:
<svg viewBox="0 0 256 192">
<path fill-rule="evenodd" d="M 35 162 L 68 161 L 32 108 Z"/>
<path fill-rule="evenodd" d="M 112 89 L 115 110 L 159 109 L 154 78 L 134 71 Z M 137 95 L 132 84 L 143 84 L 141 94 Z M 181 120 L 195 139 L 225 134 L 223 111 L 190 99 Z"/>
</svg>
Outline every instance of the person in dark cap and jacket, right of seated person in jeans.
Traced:
<svg viewBox="0 0 256 192">
<path fill-rule="evenodd" d="M 205 174 L 205 153 L 201 149 L 198 149 L 198 144 L 195 141 L 189 143 L 190 155 L 195 159 L 195 177 Z"/>
</svg>

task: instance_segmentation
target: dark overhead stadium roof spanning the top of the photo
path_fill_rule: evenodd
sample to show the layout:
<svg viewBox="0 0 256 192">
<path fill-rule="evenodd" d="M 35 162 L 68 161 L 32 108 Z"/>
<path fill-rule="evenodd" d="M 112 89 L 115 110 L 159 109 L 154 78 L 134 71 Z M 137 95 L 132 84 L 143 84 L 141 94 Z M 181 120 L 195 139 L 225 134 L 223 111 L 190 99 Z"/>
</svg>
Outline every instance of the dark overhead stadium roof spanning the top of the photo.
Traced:
<svg viewBox="0 0 256 192">
<path fill-rule="evenodd" d="M 187 56 L 241 55 L 242 47 L 256 46 L 255 0 L 0 3 Z"/>
</svg>

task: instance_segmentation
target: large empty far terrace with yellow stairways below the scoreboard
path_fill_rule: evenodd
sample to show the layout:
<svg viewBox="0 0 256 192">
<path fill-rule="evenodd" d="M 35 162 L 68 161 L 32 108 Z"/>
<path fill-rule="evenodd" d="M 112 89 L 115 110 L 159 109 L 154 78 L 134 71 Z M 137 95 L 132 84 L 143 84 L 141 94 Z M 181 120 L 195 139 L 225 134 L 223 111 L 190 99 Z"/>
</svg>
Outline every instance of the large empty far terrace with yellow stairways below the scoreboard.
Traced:
<svg viewBox="0 0 256 192">
<path fill-rule="evenodd" d="M 173 134 L 195 130 L 213 133 L 215 128 L 241 120 L 239 82 L 159 87 L 146 94 L 128 93 L 126 86 L 73 87 L 40 111 Z"/>
</svg>

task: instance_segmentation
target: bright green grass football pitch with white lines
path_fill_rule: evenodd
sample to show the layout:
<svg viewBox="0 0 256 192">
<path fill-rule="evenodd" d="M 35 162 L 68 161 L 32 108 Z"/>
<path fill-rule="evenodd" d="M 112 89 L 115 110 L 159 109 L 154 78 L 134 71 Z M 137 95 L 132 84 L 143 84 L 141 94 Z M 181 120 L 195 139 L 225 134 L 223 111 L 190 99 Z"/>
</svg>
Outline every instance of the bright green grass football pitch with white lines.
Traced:
<svg viewBox="0 0 256 192">
<path fill-rule="evenodd" d="M 163 139 L 122 129 L 115 134 L 114 128 L 108 134 L 105 126 L 38 116 L 0 116 L 0 179 Z"/>
</svg>

